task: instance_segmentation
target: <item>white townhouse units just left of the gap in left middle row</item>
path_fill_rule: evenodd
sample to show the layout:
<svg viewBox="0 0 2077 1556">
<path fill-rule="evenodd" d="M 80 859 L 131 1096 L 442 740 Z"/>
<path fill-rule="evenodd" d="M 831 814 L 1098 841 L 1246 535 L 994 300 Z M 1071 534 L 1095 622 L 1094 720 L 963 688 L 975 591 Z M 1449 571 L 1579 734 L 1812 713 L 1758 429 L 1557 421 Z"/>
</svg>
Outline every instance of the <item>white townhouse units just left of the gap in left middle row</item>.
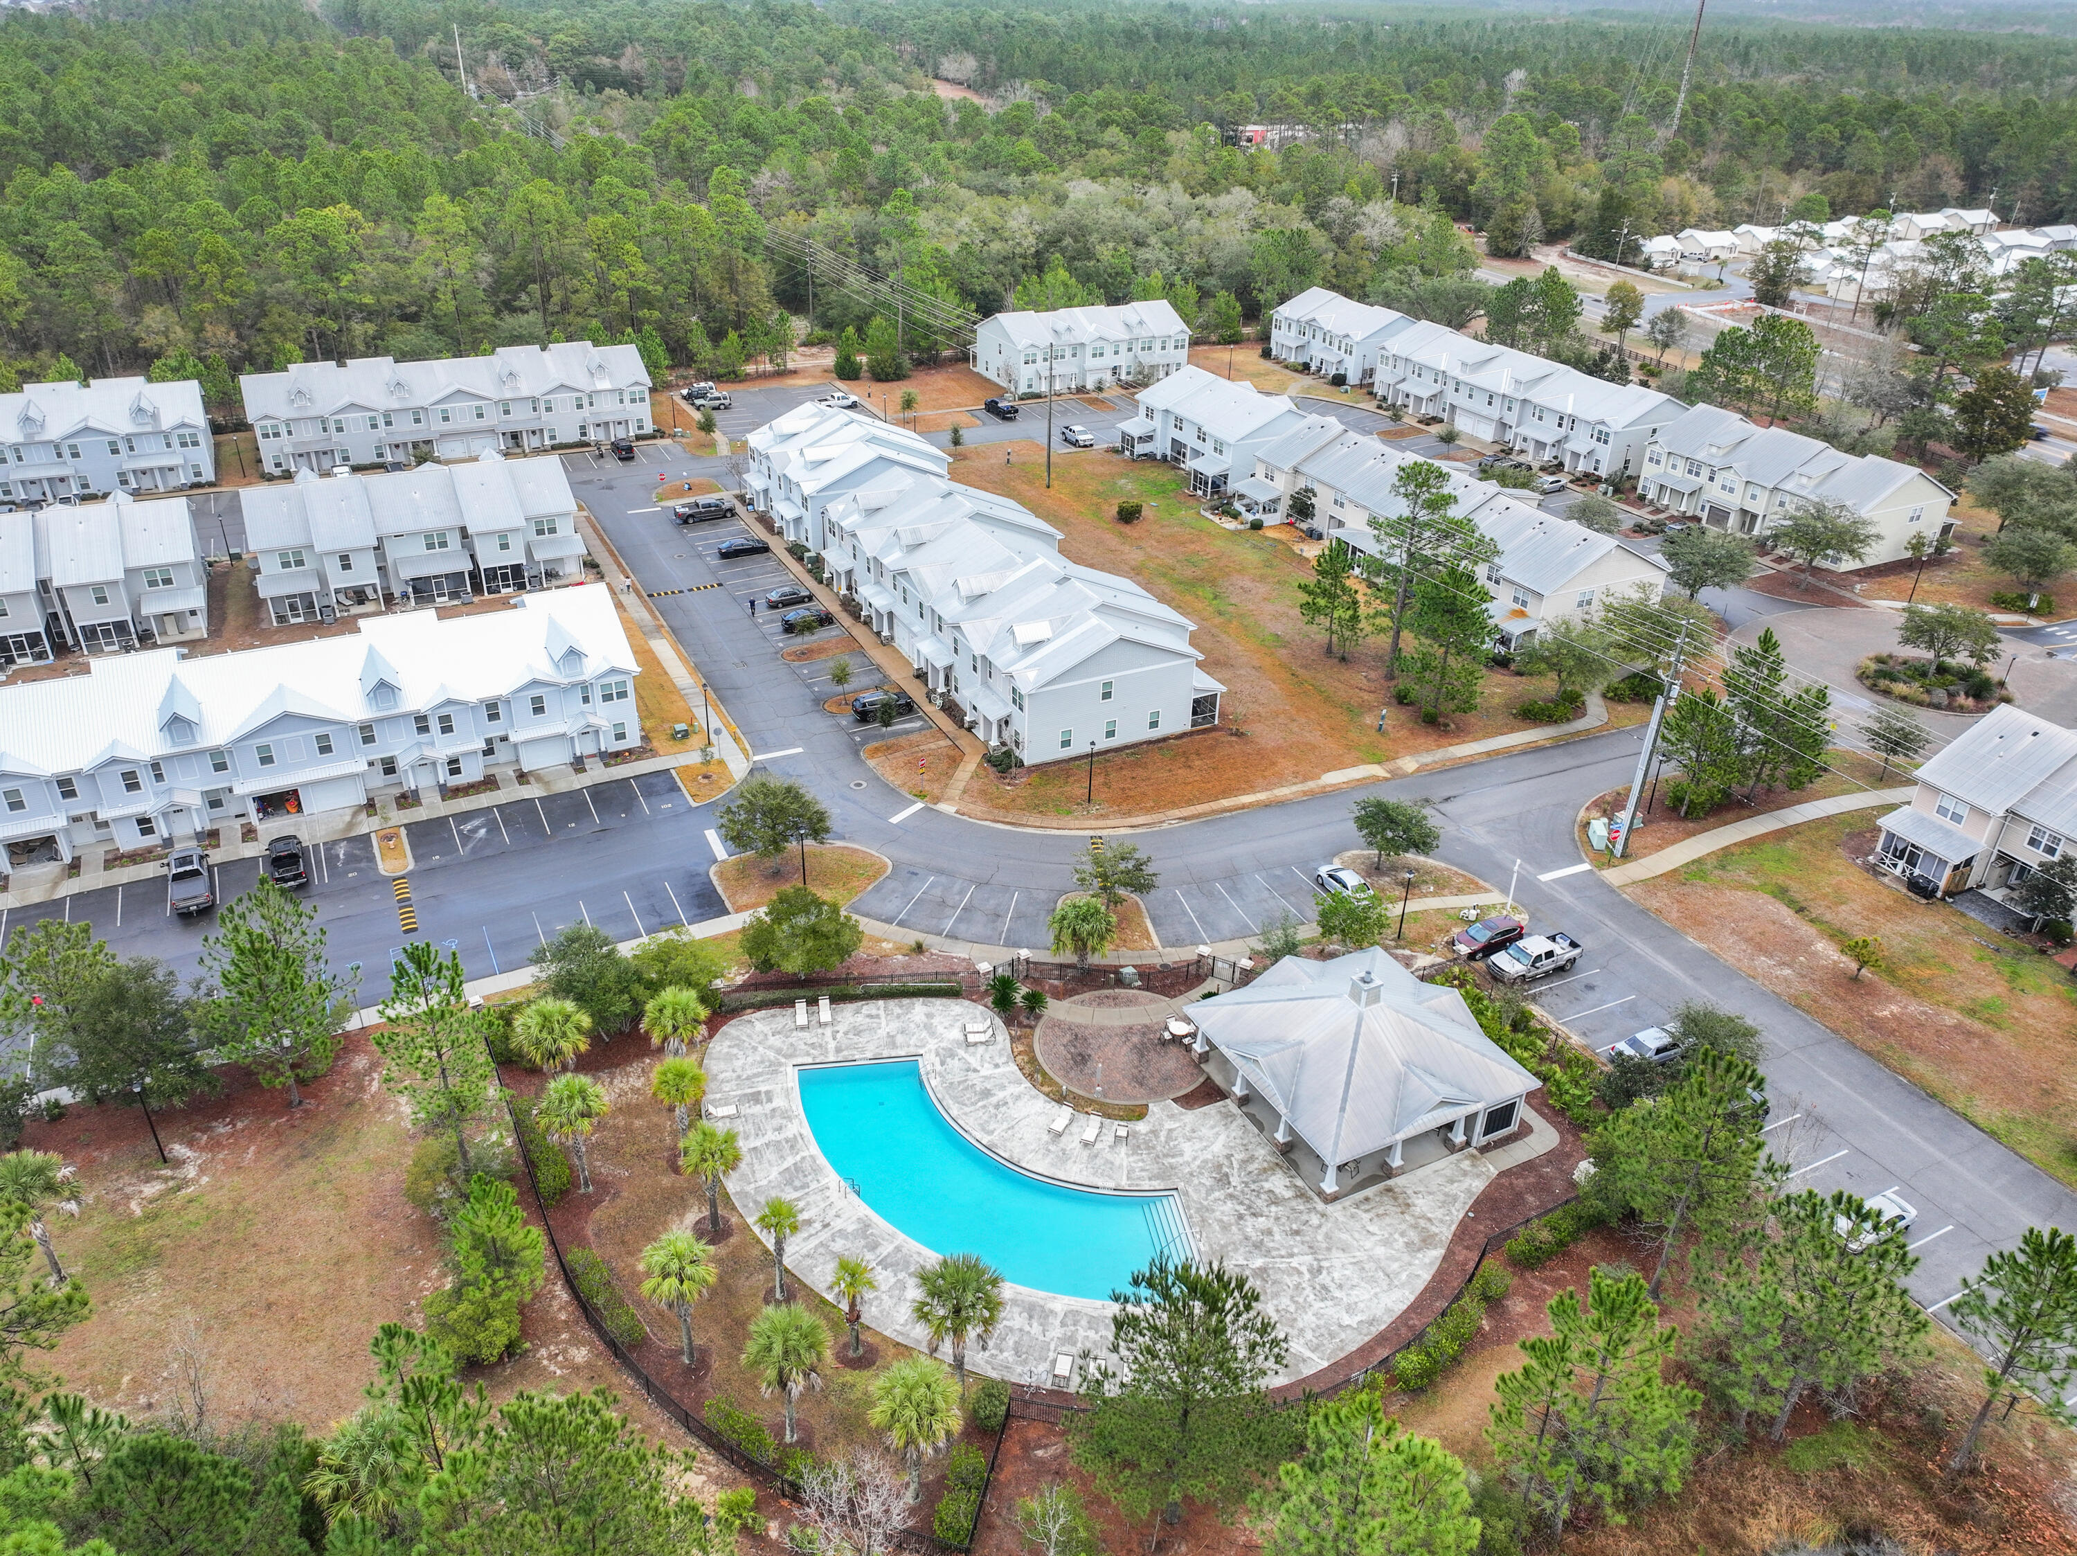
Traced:
<svg viewBox="0 0 2077 1556">
<path fill-rule="evenodd" d="M 31 521 L 44 617 L 69 646 L 106 654 L 208 634 L 208 563 L 185 497 L 139 503 L 118 490 Z"/>
</svg>

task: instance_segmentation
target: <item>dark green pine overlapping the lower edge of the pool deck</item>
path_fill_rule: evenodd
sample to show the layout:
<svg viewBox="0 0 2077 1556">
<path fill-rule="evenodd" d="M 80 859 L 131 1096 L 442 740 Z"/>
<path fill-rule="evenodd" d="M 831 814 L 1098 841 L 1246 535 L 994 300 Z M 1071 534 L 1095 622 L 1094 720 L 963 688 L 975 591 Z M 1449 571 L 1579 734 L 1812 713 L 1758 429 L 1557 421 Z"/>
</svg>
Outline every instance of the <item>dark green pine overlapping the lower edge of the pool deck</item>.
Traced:
<svg viewBox="0 0 2077 1556">
<path fill-rule="evenodd" d="M 1228 1502 L 1282 1456 L 1288 1421 L 1263 1386 L 1290 1346 L 1261 1292 L 1225 1265 L 1157 1255 L 1113 1292 L 1111 1359 L 1084 1369 L 1074 1458 L 1128 1519 L 1174 1523 L 1182 1498 Z"/>
</svg>

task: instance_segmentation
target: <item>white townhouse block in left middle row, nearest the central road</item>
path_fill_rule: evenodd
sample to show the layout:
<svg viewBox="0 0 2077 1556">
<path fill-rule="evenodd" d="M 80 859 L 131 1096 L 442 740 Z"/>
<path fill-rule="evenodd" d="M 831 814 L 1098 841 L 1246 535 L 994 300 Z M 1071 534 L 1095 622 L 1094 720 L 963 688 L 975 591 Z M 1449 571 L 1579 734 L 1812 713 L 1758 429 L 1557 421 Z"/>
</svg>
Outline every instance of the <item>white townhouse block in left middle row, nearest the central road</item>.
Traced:
<svg viewBox="0 0 2077 1556">
<path fill-rule="evenodd" d="M 584 575 L 577 499 L 561 459 L 484 453 L 451 465 L 320 478 L 241 494 L 274 625 L 388 602 L 449 605 Z"/>
</svg>

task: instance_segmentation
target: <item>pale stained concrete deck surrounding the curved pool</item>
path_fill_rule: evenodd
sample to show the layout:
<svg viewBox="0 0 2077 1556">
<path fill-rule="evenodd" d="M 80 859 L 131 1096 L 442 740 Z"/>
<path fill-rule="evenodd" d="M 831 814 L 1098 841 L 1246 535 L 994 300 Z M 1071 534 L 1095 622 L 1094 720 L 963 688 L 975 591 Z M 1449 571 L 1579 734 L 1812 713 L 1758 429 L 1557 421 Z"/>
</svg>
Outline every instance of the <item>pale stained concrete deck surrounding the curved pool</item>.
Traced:
<svg viewBox="0 0 2077 1556">
<path fill-rule="evenodd" d="M 800 1207 L 787 1267 L 825 1294 L 839 1255 L 864 1257 L 881 1282 L 864 1300 L 866 1321 L 918 1348 L 922 1325 L 910 1319 L 916 1271 L 957 1249 L 924 1249 L 843 1186 L 808 1130 L 795 1066 L 916 1057 L 953 1126 L 1003 1161 L 1082 1188 L 1174 1192 L 1198 1257 L 1248 1276 L 1290 1338 L 1290 1359 L 1271 1381 L 1315 1373 L 1392 1323 L 1441 1263 L 1495 1161 L 1506 1165 L 1518 1151 L 1506 1147 L 1493 1159 L 1462 1151 L 1323 1205 L 1232 1101 L 1194 1111 L 1153 1103 L 1142 1122 L 1126 1126 L 1126 1138 L 1105 1120 L 1101 1138 L 1082 1145 L 1088 1116 L 1049 1132 L 1059 1105 L 1018 1072 L 1001 1022 L 991 1018 L 987 1043 L 966 1043 L 964 1024 L 982 1016 L 966 999 L 887 999 L 835 1005 L 829 1026 L 798 1028 L 791 1010 L 768 1010 L 729 1022 L 706 1051 L 708 1116 L 733 1105 L 735 1116 L 721 1122 L 744 1147 L 727 1178 L 729 1197 L 746 1215 L 773 1195 Z M 1003 1296 L 995 1340 L 968 1350 L 972 1371 L 1047 1384 L 1059 1352 L 1109 1352 L 1109 1303 L 1028 1286 L 1005 1286 Z"/>
</svg>

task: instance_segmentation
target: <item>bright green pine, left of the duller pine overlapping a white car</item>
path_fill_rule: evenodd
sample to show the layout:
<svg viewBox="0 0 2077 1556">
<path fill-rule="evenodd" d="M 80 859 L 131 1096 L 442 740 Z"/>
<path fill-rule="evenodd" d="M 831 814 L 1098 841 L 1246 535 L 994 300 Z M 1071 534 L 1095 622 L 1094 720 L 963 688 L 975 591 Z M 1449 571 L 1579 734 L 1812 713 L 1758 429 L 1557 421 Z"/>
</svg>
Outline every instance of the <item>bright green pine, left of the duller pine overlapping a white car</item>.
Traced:
<svg viewBox="0 0 2077 1556">
<path fill-rule="evenodd" d="M 1549 1336 L 1516 1342 L 1527 1361 L 1493 1379 L 1500 1398 L 1485 1429 L 1554 1537 L 1583 1500 L 1616 1514 L 1622 1502 L 1672 1496 L 1695 1456 L 1701 1394 L 1664 1377 L 1674 1330 L 1660 1327 L 1645 1278 L 1595 1265 L 1587 1282 L 1585 1303 L 1564 1290 L 1543 1309 Z"/>
</svg>

